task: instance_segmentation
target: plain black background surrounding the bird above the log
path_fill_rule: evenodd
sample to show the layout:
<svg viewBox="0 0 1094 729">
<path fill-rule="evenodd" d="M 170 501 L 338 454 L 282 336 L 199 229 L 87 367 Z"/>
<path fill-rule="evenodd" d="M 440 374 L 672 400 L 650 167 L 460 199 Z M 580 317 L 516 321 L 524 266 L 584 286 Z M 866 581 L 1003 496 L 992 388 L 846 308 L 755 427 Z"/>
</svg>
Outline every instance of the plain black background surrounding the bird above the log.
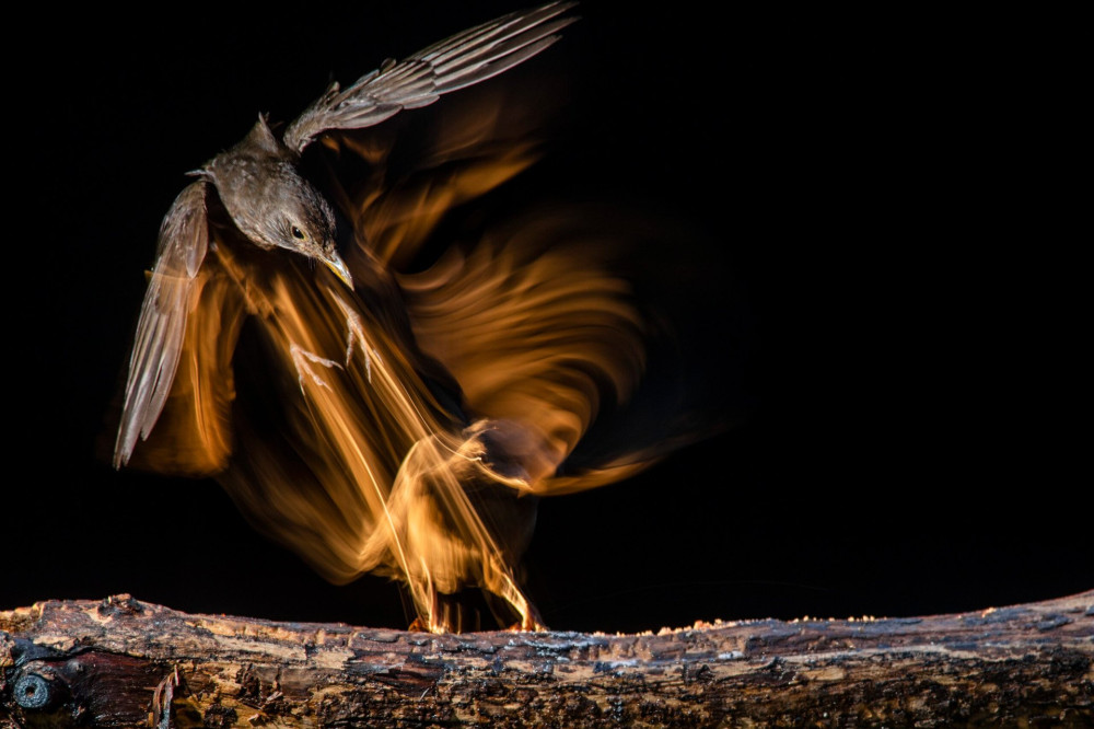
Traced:
<svg viewBox="0 0 1094 729">
<path fill-rule="evenodd" d="M 96 442 L 182 173 L 259 111 L 290 119 L 330 76 L 515 7 L 27 21 L 7 63 L 0 608 L 130 592 L 405 624 L 387 582 L 326 585 L 212 482 L 116 473 Z M 514 71 L 568 88 L 528 189 L 684 221 L 687 240 L 649 257 L 654 303 L 734 424 L 543 505 L 527 567 L 548 625 L 909 615 L 1094 587 L 1090 158 L 1066 21 L 709 12 L 590 2 Z"/>
</svg>

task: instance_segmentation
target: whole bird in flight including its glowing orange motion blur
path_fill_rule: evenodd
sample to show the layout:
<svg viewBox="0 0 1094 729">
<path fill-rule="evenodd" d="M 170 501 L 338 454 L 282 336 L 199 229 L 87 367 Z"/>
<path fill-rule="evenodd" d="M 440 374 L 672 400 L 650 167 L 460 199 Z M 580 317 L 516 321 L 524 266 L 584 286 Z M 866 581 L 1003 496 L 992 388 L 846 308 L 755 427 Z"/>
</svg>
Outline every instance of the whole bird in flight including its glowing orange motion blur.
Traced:
<svg viewBox="0 0 1094 729">
<path fill-rule="evenodd" d="M 392 181 L 387 148 L 362 130 L 540 54 L 574 4 L 334 82 L 283 128 L 259 115 L 189 173 L 159 233 L 116 468 L 214 477 L 326 579 L 398 580 L 418 629 L 463 629 L 447 597 L 469 588 L 499 620 L 544 628 L 517 575 L 537 500 L 655 460 L 565 467 L 601 406 L 637 386 L 642 316 L 572 217 L 514 222 L 399 270 L 446 211 L 536 153 L 493 132 L 468 142 L 472 107 L 450 135 L 461 141 L 423 165 L 444 175 Z M 337 157 L 325 182 L 305 172 L 316 150 Z M 369 170 L 356 182 L 336 170 L 350 158 Z"/>
</svg>

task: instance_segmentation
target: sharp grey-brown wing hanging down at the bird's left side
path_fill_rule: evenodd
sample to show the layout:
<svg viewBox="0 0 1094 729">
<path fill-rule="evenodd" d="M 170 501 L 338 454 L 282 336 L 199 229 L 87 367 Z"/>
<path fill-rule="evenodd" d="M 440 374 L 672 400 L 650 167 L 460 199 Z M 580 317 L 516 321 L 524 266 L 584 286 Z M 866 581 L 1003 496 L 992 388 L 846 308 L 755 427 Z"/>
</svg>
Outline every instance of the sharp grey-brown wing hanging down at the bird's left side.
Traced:
<svg viewBox="0 0 1094 729">
<path fill-rule="evenodd" d="M 178 368 L 186 316 L 208 247 L 206 183 L 196 182 L 175 198 L 160 227 L 155 265 L 129 359 L 121 425 L 114 447 L 116 468 L 129 462 L 137 437 L 148 438 L 163 410 Z"/>
</svg>

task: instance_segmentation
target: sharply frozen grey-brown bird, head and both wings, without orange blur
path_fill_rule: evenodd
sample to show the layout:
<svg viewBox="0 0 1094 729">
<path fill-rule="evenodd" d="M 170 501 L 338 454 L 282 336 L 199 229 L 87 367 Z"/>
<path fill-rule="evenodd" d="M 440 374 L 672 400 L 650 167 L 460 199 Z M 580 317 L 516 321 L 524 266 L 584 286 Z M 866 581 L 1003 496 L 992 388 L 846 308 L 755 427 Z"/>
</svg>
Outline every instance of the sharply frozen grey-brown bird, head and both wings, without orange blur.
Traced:
<svg viewBox="0 0 1094 729">
<path fill-rule="evenodd" d="M 252 243 L 321 261 L 351 286 L 346 264 L 335 248 L 330 205 L 298 170 L 304 149 L 324 132 L 380 124 L 401 109 L 426 106 L 442 94 L 527 60 L 555 43 L 555 33 L 574 21 L 563 15 L 573 4 L 552 2 L 469 28 L 401 62 L 388 60 L 345 91 L 331 83 L 289 125 L 281 139 L 259 117 L 243 141 L 193 173 L 198 182 L 178 196 L 160 230 L 155 268 L 126 386 L 115 467 L 129 460 L 138 433 L 148 437 L 172 385 L 188 313 L 183 302 L 208 250 L 209 185 Z"/>
</svg>

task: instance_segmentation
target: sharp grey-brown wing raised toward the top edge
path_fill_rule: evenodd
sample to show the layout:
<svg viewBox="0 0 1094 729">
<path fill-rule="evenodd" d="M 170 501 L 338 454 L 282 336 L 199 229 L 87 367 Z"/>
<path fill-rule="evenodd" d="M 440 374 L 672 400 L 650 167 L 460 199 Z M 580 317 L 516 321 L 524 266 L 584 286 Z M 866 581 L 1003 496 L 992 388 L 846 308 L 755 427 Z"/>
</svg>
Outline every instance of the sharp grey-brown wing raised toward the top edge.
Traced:
<svg viewBox="0 0 1094 729">
<path fill-rule="evenodd" d="M 441 94 L 485 81 L 550 46 L 556 32 L 577 20 L 561 16 L 574 2 L 552 2 L 503 15 L 396 62 L 388 60 L 353 85 L 337 82 L 304 109 L 284 132 L 298 152 L 328 129 L 361 129 L 404 108 L 426 106 Z"/>
</svg>

